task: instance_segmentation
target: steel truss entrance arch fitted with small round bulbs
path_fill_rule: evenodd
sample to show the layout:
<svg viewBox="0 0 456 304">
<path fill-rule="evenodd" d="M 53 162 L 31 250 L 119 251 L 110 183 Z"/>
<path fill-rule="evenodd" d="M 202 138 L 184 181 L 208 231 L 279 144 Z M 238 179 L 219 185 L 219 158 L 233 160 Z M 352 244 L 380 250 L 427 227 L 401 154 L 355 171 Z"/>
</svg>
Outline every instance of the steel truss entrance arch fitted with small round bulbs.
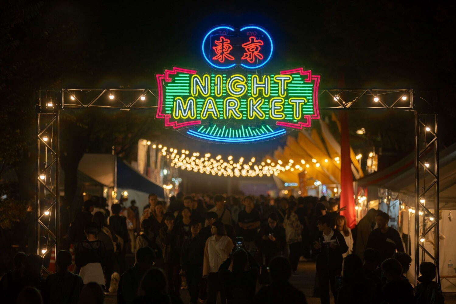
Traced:
<svg viewBox="0 0 456 304">
<path fill-rule="evenodd" d="M 60 112 L 65 108 L 156 107 L 156 89 L 41 90 L 37 104 L 36 244 L 41 256 L 59 246 Z M 415 279 L 425 256 L 439 265 L 439 146 L 436 96 L 412 89 L 321 89 L 319 110 L 415 113 Z M 428 161 L 429 160 L 429 161 Z M 433 220 L 430 220 L 430 219 Z M 432 234 L 434 234 L 432 236 Z M 431 246 L 427 246 L 430 244 Z M 433 247 L 433 250 L 430 250 Z M 439 267 L 437 267 L 438 271 Z M 437 282 L 440 284 L 439 272 Z"/>
</svg>

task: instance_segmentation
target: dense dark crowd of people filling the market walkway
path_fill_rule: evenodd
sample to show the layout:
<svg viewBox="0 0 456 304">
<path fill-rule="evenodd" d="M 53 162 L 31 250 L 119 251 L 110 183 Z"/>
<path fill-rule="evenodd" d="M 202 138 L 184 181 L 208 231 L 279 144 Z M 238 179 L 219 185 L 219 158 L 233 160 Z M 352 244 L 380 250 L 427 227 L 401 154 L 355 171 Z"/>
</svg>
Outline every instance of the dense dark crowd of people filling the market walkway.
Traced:
<svg viewBox="0 0 456 304">
<path fill-rule="evenodd" d="M 57 253 L 43 278 L 43 258 L 17 253 L 0 281 L 3 303 L 223 304 L 306 303 L 289 283 L 300 259 L 316 261 L 314 295 L 322 304 L 440 304 L 435 265 L 423 262 L 420 284 L 404 276 L 411 258 L 389 215 L 368 210 L 355 230 L 337 199 L 184 196 L 166 204 L 149 195 L 144 210 L 99 199 L 84 202 L 68 231 L 74 252 Z M 69 248 L 68 248 L 69 249 Z M 127 268 L 127 256 L 135 256 Z"/>
</svg>

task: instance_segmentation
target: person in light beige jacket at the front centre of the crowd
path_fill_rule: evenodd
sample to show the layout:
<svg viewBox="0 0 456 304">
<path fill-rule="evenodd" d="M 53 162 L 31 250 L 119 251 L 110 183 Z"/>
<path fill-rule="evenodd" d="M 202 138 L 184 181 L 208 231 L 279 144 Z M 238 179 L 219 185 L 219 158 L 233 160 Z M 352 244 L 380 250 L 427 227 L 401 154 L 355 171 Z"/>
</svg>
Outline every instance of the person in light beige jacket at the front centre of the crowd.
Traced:
<svg viewBox="0 0 456 304">
<path fill-rule="evenodd" d="M 207 303 L 215 304 L 217 294 L 221 291 L 218 279 L 218 268 L 228 258 L 229 253 L 233 250 L 233 241 L 226 236 L 225 226 L 222 222 L 216 221 L 211 227 L 212 236 L 206 241 L 204 247 L 204 260 L 202 267 L 203 278 L 207 278 Z M 225 303 L 225 296 L 220 294 L 222 303 Z"/>
</svg>

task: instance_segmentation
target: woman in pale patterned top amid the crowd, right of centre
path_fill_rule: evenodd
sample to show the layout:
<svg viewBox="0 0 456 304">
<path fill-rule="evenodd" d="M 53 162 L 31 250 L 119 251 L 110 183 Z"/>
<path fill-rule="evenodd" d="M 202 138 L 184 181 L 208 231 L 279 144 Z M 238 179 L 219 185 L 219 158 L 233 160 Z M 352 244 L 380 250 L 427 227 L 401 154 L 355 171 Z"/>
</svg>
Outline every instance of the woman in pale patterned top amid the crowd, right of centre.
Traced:
<svg viewBox="0 0 456 304">
<path fill-rule="evenodd" d="M 284 228 L 286 242 L 290 248 L 290 264 L 293 275 L 296 275 L 298 269 L 299 258 L 301 257 L 301 241 L 302 241 L 302 229 L 303 226 L 299 221 L 298 215 L 296 214 L 297 204 L 294 200 L 288 202 L 288 209 L 284 219 Z"/>
</svg>

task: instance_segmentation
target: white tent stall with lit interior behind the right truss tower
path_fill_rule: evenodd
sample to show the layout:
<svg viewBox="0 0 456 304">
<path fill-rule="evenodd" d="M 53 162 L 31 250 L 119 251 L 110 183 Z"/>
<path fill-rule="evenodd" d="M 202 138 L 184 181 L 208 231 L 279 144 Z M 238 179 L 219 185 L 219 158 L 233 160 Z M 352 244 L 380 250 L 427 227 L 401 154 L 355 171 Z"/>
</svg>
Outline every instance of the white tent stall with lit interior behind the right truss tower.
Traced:
<svg viewBox="0 0 456 304">
<path fill-rule="evenodd" d="M 358 179 L 355 182 L 356 188 L 367 190 L 368 202 L 378 201 L 379 209 L 388 211 L 392 217 L 389 225 L 398 226 L 401 233 L 408 234 L 411 237 L 410 254 L 412 259 L 415 257 L 415 216 L 420 216 L 420 232 L 423 220 L 428 225 L 431 224 L 432 218 L 409 212 L 409 208 L 415 206 L 415 166 L 414 153 L 394 163 L 377 173 Z M 428 162 L 433 163 L 433 157 L 429 157 Z M 440 182 L 440 276 L 442 291 L 456 292 L 456 144 L 447 147 L 440 152 L 439 161 L 439 182 Z M 389 204 L 386 204 L 389 202 Z M 397 205 L 395 204 L 397 202 Z M 399 207 L 399 202 L 403 207 Z M 431 212 L 434 212 L 434 197 L 426 197 L 425 206 Z M 415 210 L 411 210 L 415 211 Z M 434 219 L 435 220 L 435 219 Z M 410 225 L 409 225 L 410 224 Z M 409 244 L 405 244 L 407 245 Z M 434 235 L 429 234 L 424 241 L 426 250 L 434 252 Z M 425 255 L 425 260 L 432 260 Z M 412 261 L 414 265 L 415 261 Z M 453 265 L 452 265 L 453 264 Z M 452 266 L 451 266 L 452 265 Z M 445 276 L 455 278 L 445 278 Z M 415 281 L 414 269 L 411 267 L 408 275 L 410 281 Z M 455 285 L 453 285 L 455 284 Z"/>
</svg>

